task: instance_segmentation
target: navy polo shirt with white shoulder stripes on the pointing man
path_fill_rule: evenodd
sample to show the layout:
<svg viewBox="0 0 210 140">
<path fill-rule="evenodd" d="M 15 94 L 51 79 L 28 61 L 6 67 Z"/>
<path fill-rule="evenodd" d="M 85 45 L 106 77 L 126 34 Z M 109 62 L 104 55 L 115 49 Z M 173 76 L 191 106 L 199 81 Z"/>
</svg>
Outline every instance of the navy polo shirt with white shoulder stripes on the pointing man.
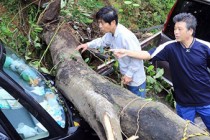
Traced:
<svg viewBox="0 0 210 140">
<path fill-rule="evenodd" d="M 194 39 L 187 49 L 169 41 L 150 50 L 152 61 L 167 61 L 170 66 L 174 99 L 182 106 L 210 105 L 210 43 Z"/>
</svg>

